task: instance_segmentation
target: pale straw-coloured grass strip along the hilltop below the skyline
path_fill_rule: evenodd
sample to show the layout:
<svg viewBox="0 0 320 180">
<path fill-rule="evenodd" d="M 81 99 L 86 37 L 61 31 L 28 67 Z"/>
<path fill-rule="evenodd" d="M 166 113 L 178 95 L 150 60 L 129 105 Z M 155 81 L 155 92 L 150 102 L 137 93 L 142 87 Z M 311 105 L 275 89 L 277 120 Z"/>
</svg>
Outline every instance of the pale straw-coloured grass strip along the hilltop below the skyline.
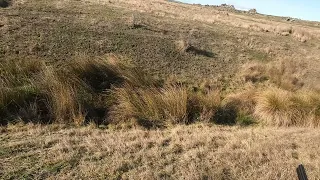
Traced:
<svg viewBox="0 0 320 180">
<path fill-rule="evenodd" d="M 221 10 L 214 7 L 204 7 L 199 5 L 176 4 L 172 2 L 163 2 L 161 0 L 119 0 L 109 3 L 107 0 L 99 2 L 88 0 L 91 3 L 108 4 L 110 6 L 134 9 L 142 12 L 154 14 L 156 16 L 165 16 L 174 19 L 192 20 L 205 22 L 208 24 L 228 24 L 236 28 L 245 28 L 252 31 L 273 33 L 281 36 L 290 36 L 301 42 L 306 42 L 312 38 L 319 39 L 320 30 L 310 23 L 291 23 L 286 22 L 284 18 L 274 17 L 265 18 L 262 15 L 245 15 L 245 13 L 236 13 Z M 190 16 L 192 14 L 192 16 Z"/>
</svg>

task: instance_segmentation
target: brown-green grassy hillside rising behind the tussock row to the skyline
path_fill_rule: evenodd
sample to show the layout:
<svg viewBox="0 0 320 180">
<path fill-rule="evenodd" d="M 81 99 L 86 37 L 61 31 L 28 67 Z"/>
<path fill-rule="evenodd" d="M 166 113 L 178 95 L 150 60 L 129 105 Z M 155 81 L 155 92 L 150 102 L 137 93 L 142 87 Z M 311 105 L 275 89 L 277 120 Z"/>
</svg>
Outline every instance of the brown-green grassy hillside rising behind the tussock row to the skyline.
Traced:
<svg viewBox="0 0 320 180">
<path fill-rule="evenodd" d="M 286 61 L 298 64 L 292 74 L 305 87 L 319 86 L 316 22 L 162 0 L 15 0 L 0 9 L 0 24 L 1 59 L 59 63 L 114 53 L 157 77 L 231 89 L 241 85 L 234 82 L 243 64 Z"/>
</svg>

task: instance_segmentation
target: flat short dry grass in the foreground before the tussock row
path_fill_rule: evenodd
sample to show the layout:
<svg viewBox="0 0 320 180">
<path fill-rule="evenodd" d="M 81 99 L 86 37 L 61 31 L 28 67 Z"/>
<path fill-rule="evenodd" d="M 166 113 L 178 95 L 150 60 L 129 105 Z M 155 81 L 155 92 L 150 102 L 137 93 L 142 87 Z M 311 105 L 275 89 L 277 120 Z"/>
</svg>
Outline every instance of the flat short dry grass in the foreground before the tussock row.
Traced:
<svg viewBox="0 0 320 180">
<path fill-rule="evenodd" d="M 63 125 L 1 127 L 3 179 L 320 178 L 320 133 L 309 128 L 175 126 L 102 130 Z"/>
</svg>

